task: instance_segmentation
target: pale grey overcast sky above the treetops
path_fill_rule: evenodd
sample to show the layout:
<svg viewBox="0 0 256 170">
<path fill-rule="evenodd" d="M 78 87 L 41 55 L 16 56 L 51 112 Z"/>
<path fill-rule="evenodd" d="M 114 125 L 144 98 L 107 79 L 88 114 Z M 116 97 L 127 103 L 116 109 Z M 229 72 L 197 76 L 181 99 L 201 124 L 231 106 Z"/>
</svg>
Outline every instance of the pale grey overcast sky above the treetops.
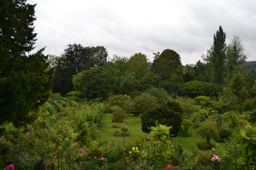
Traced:
<svg viewBox="0 0 256 170">
<path fill-rule="evenodd" d="M 108 56 L 130 57 L 169 48 L 194 64 L 222 26 L 226 44 L 243 42 L 247 61 L 256 60 L 256 1 L 28 0 L 36 5 L 36 49 L 59 56 L 67 44 L 104 46 Z"/>
</svg>

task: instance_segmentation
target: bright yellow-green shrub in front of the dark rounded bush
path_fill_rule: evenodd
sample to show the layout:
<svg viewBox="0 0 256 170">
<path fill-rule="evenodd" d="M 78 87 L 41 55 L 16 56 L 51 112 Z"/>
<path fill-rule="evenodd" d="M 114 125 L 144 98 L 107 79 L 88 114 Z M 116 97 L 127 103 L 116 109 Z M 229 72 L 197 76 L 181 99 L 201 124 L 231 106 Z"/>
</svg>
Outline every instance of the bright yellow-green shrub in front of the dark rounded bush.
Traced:
<svg viewBox="0 0 256 170">
<path fill-rule="evenodd" d="M 159 139 L 160 141 L 165 141 L 169 138 L 169 131 L 172 129 L 172 126 L 166 125 L 157 125 L 156 127 L 150 128 L 150 133 L 148 134 L 154 140 Z"/>
</svg>

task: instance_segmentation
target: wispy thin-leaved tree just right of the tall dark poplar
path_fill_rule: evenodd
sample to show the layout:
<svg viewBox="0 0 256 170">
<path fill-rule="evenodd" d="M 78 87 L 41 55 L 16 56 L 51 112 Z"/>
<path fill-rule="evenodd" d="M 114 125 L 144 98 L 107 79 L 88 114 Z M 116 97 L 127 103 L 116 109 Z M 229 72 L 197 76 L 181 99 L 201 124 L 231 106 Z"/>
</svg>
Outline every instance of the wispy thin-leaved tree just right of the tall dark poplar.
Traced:
<svg viewBox="0 0 256 170">
<path fill-rule="evenodd" d="M 244 54 L 245 48 L 243 42 L 238 35 L 233 35 L 230 43 L 227 46 L 226 60 L 228 75 L 231 75 L 234 65 L 242 64 L 247 56 Z"/>
</svg>

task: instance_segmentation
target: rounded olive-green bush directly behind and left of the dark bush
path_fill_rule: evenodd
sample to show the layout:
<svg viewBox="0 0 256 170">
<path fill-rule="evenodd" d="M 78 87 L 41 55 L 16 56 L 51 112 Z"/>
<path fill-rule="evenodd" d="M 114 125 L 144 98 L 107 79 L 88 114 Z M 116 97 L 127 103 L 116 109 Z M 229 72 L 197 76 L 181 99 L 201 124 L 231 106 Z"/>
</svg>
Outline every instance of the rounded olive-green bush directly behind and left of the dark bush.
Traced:
<svg viewBox="0 0 256 170">
<path fill-rule="evenodd" d="M 133 114 L 136 116 L 157 105 L 156 97 L 146 93 L 136 96 L 132 101 L 134 104 Z"/>
</svg>

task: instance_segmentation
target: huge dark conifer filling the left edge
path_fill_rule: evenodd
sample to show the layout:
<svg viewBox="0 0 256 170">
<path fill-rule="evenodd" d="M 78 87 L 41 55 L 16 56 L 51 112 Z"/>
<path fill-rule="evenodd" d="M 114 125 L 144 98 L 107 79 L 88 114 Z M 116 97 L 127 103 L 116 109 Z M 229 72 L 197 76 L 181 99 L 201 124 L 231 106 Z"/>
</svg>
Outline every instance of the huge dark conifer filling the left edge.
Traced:
<svg viewBox="0 0 256 170">
<path fill-rule="evenodd" d="M 0 124 L 33 122 L 35 112 L 48 99 L 52 69 L 44 48 L 34 49 L 36 5 L 26 0 L 0 3 Z"/>
</svg>

